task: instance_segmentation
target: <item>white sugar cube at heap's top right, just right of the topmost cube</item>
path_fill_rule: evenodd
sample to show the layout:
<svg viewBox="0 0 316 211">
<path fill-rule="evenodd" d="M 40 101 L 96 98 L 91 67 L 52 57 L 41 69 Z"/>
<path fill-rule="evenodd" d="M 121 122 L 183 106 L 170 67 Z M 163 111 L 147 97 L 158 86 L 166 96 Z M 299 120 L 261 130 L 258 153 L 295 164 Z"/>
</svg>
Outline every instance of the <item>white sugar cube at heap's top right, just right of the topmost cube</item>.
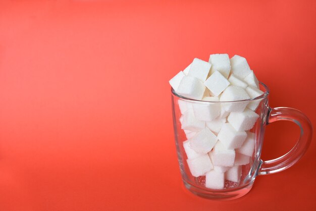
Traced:
<svg viewBox="0 0 316 211">
<path fill-rule="evenodd" d="M 247 60 L 238 55 L 233 56 L 230 59 L 231 72 L 237 77 L 244 79 L 251 73 L 250 67 L 247 63 Z"/>
</svg>

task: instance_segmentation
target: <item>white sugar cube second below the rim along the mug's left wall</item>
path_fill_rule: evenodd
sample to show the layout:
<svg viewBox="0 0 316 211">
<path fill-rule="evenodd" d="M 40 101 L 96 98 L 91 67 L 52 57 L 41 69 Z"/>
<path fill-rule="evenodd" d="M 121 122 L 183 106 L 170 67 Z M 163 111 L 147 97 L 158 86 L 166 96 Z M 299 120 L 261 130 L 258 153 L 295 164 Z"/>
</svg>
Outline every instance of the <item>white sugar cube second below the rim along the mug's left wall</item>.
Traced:
<svg viewBox="0 0 316 211">
<path fill-rule="evenodd" d="M 181 118 L 180 118 L 181 120 Z M 205 128 L 205 122 L 195 119 L 193 111 L 187 111 L 182 115 L 181 129 L 190 131 L 199 131 Z"/>
</svg>

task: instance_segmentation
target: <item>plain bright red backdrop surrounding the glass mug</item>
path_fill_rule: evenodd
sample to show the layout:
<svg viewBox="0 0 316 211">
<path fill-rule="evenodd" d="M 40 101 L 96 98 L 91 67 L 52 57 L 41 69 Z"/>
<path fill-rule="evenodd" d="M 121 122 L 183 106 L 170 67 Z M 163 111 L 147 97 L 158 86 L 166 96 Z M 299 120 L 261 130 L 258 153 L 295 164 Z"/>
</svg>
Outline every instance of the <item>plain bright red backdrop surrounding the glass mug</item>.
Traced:
<svg viewBox="0 0 316 211">
<path fill-rule="evenodd" d="M 315 210 L 316 140 L 227 202 L 182 185 L 168 80 L 247 58 L 272 107 L 316 121 L 315 1 L 1 1 L 0 210 Z M 262 159 L 292 123 L 267 129 Z"/>
</svg>

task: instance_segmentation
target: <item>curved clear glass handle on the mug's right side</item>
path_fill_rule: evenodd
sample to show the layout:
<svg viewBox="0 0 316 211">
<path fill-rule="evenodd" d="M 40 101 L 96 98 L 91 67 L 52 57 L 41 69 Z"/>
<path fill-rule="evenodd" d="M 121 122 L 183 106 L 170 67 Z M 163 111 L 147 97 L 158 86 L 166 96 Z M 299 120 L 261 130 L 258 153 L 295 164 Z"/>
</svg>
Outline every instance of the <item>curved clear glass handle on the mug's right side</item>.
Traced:
<svg viewBox="0 0 316 211">
<path fill-rule="evenodd" d="M 300 137 L 295 146 L 286 154 L 277 159 L 262 161 L 258 175 L 281 172 L 293 166 L 306 152 L 312 136 L 312 126 L 309 119 L 300 111 L 292 108 L 269 108 L 267 125 L 276 121 L 285 120 L 294 122 L 300 128 Z"/>
</svg>

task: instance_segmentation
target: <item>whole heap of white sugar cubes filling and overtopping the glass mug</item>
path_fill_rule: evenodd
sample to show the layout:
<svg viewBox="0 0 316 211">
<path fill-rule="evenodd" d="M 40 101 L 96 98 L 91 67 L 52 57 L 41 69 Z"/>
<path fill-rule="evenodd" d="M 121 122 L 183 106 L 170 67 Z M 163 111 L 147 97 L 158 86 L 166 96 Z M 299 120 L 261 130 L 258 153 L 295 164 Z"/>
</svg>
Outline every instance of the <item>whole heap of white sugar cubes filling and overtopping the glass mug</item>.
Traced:
<svg viewBox="0 0 316 211">
<path fill-rule="evenodd" d="M 238 100 L 264 93 L 246 59 L 227 54 L 210 55 L 208 62 L 195 58 L 169 82 L 177 94 L 201 100 L 178 100 L 192 176 L 205 176 L 205 187 L 211 189 L 224 189 L 225 180 L 238 183 L 241 166 L 254 153 L 255 134 L 249 130 L 259 117 L 260 102 Z"/>
</svg>

